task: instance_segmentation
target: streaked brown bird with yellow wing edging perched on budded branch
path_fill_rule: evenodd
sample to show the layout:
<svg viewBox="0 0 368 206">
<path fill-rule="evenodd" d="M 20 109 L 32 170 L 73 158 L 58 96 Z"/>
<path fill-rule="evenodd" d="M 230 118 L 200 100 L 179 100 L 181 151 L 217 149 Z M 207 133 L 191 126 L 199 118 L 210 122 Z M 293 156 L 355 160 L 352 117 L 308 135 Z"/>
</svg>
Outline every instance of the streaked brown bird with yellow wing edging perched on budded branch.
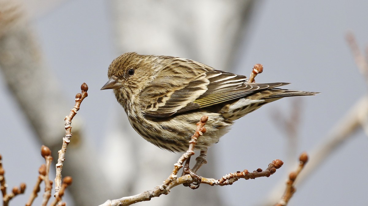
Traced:
<svg viewBox="0 0 368 206">
<path fill-rule="evenodd" d="M 196 145 L 200 150 L 217 143 L 234 120 L 266 103 L 317 93 L 276 88 L 289 83 L 250 83 L 243 75 L 197 61 L 135 52 L 117 57 L 107 75 L 101 89 L 113 89 L 135 131 L 172 152 L 188 149 L 195 123 L 204 115 L 209 118 Z"/>
</svg>

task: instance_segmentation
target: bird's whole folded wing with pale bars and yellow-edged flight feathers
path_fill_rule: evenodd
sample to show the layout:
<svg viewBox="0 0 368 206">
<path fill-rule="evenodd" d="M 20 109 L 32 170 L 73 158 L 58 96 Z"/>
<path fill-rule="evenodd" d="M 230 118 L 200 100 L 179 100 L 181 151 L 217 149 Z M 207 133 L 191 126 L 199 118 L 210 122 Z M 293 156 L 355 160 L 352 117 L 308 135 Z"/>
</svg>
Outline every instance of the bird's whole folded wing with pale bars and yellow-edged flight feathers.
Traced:
<svg viewBox="0 0 368 206">
<path fill-rule="evenodd" d="M 142 109 L 149 117 L 170 117 L 286 84 L 248 83 L 245 76 L 217 70 L 160 77 L 142 91 Z"/>
</svg>

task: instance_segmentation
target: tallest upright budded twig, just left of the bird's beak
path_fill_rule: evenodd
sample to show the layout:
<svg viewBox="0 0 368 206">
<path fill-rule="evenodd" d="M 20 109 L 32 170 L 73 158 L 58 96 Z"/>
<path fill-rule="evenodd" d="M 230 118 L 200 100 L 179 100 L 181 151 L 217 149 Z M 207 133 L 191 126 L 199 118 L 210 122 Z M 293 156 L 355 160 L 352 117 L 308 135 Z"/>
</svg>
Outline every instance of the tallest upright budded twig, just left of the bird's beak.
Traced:
<svg viewBox="0 0 368 206">
<path fill-rule="evenodd" d="M 56 164 L 56 178 L 55 178 L 55 197 L 58 196 L 58 193 L 61 189 L 61 170 L 63 169 L 63 163 L 65 160 L 65 153 L 67 150 L 67 146 L 70 142 L 70 138 L 72 136 L 71 134 L 71 120 L 73 117 L 77 114 L 77 111 L 80 108 L 80 105 L 85 97 L 88 96 L 87 90 L 88 86 L 86 83 L 83 83 L 81 85 L 82 93 L 78 93 L 75 95 L 75 106 L 73 109 L 70 110 L 70 114 L 65 117 L 65 137 L 63 138 L 63 146 L 61 147 L 61 150 L 59 150 L 59 158 L 57 159 Z"/>
</svg>

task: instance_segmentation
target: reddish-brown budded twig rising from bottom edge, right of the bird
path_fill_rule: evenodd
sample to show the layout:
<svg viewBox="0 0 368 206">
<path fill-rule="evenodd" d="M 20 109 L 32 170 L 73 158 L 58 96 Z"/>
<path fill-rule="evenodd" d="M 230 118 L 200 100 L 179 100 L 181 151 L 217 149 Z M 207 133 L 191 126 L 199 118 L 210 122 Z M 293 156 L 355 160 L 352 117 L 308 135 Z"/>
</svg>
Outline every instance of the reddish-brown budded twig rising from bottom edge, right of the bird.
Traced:
<svg viewBox="0 0 368 206">
<path fill-rule="evenodd" d="M 275 206 L 286 206 L 287 203 L 289 202 L 290 198 L 293 196 L 294 192 L 296 191 L 295 189 L 295 180 L 298 177 L 298 175 L 300 174 L 301 170 L 304 168 L 304 165 L 307 163 L 308 161 L 308 154 L 307 153 L 302 153 L 299 157 L 299 166 L 297 168 L 296 171 L 293 171 L 289 174 L 289 180 L 286 182 L 286 189 L 285 189 L 285 193 L 282 196 L 282 198 L 280 199 L 280 201 L 278 203 L 275 204 Z"/>
</svg>

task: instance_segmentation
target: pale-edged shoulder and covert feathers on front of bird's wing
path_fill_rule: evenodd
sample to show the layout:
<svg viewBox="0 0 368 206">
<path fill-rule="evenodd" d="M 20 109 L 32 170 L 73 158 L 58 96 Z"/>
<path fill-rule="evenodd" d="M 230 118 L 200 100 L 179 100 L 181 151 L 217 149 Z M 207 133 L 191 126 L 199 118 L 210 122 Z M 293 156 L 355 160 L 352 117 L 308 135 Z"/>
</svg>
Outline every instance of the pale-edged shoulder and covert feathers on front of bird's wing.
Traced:
<svg viewBox="0 0 368 206">
<path fill-rule="evenodd" d="M 210 83 L 205 70 L 170 73 L 170 76 L 158 76 L 141 92 L 141 105 L 146 116 L 169 117 L 184 107 L 197 109 L 193 103 L 207 90 Z"/>
</svg>

